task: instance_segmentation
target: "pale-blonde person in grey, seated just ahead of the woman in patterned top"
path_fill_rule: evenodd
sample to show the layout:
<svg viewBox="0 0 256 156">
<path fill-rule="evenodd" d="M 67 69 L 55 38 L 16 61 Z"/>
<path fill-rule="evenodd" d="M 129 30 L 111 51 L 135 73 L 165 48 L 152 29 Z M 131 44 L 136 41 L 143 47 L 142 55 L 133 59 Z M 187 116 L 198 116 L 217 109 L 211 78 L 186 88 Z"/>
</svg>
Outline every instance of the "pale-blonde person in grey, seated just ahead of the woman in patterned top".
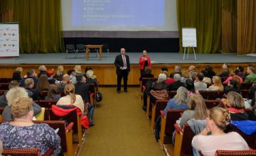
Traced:
<svg viewBox="0 0 256 156">
<path fill-rule="evenodd" d="M 6 106 L 4 108 L 4 111 L 2 113 L 3 121 L 12 121 L 13 120 L 13 116 L 11 116 L 11 106 L 14 103 L 14 100 L 18 99 L 19 97 L 27 97 L 28 98 L 28 92 L 26 91 L 26 89 L 24 89 L 22 87 L 14 87 L 6 93 L 6 100 L 7 100 L 8 106 Z M 33 115 L 34 116 L 36 116 L 38 113 L 41 112 L 41 106 L 36 104 L 34 101 L 33 101 L 32 106 L 33 106 L 33 113 L 34 113 Z"/>
</svg>

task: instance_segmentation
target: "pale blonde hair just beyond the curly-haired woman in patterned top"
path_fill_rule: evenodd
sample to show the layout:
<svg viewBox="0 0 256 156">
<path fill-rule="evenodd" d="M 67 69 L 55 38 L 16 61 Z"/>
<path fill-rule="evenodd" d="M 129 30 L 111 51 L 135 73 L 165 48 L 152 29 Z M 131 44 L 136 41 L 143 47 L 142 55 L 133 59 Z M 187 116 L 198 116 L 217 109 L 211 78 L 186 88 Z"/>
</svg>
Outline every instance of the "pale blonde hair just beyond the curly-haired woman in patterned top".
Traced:
<svg viewBox="0 0 256 156">
<path fill-rule="evenodd" d="M 16 100 L 19 97 L 28 97 L 28 92 L 26 91 L 26 89 L 22 87 L 15 87 L 7 91 L 6 100 L 8 106 L 11 106 L 14 100 Z"/>
</svg>

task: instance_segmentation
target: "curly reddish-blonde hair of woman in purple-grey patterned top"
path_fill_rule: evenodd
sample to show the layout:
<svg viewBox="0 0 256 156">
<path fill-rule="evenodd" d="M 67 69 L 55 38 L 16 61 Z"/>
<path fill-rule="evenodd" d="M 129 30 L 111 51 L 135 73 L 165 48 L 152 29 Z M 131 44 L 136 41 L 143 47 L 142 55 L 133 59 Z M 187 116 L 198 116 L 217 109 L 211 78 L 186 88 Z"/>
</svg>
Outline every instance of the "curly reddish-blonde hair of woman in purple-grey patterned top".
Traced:
<svg viewBox="0 0 256 156">
<path fill-rule="evenodd" d="M 33 100 L 29 97 L 18 97 L 11 105 L 11 115 L 14 118 L 23 118 L 28 116 L 29 111 L 33 111 Z"/>
</svg>

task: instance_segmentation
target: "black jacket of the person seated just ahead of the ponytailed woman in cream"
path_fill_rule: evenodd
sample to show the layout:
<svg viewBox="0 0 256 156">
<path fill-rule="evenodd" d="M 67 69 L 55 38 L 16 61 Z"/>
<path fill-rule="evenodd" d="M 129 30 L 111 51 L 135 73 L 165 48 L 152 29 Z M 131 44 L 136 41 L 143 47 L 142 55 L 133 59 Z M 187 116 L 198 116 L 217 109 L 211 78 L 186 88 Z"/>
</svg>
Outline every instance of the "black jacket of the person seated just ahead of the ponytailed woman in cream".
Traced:
<svg viewBox="0 0 256 156">
<path fill-rule="evenodd" d="M 82 96 L 85 102 L 89 102 L 89 86 L 90 84 L 85 84 L 83 82 L 77 82 L 75 84 L 75 94 Z"/>
</svg>

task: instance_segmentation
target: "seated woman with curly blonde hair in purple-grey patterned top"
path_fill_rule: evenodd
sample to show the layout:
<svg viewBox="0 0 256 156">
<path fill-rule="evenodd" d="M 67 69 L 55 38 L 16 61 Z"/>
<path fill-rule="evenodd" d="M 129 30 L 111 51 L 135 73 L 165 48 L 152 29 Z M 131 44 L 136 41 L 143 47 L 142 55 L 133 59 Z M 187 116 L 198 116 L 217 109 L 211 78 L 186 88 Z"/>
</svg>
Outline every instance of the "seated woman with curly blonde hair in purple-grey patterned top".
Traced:
<svg viewBox="0 0 256 156">
<path fill-rule="evenodd" d="M 33 123 L 32 99 L 18 97 L 11 106 L 14 121 L 1 123 L 0 140 L 4 148 L 35 148 L 43 155 L 50 148 L 54 148 L 53 155 L 60 153 L 60 136 L 46 123 Z M 15 138 L 15 139 L 14 139 Z"/>
</svg>

